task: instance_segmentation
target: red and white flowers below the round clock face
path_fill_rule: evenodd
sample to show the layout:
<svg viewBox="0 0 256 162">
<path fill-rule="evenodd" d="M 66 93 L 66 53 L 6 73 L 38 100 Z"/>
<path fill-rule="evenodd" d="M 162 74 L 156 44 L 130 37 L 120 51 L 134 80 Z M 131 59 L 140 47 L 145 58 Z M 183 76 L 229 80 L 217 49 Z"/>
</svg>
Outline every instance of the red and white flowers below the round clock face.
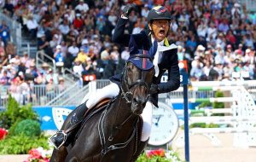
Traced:
<svg viewBox="0 0 256 162">
<path fill-rule="evenodd" d="M 137 159 L 137 162 L 181 162 L 178 154 L 173 151 L 166 151 L 162 148 L 148 150 Z"/>
</svg>

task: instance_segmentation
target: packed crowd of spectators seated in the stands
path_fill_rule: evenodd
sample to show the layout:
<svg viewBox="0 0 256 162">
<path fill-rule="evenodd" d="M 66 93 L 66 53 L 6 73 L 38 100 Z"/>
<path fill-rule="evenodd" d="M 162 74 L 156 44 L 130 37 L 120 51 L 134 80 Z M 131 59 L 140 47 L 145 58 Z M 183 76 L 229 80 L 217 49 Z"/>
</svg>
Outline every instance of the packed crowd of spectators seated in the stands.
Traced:
<svg viewBox="0 0 256 162">
<path fill-rule="evenodd" d="M 187 61 L 190 79 L 255 79 L 256 14 L 236 0 L 137 0 L 125 33 L 147 28 L 148 11 L 164 5 L 172 13 L 168 39 L 177 44 L 179 61 Z M 38 43 L 41 58 L 49 55 L 56 66 L 72 69 L 79 76 L 95 74 L 109 78 L 121 72 L 129 57 L 127 48 L 111 41 L 114 26 L 129 0 L 0 0 L 3 13 L 19 21 Z M 27 55 L 16 55 L 9 43 L 9 27 L 0 25 L 1 84 L 58 83 L 38 70 Z M 29 63 L 28 63 L 29 62 Z M 4 67 L 4 68 L 3 68 Z M 1 70 L 3 69 L 3 70 Z M 17 78 L 18 77 L 18 78 Z M 26 78 L 25 77 L 25 78 Z M 51 79 L 50 79 L 51 78 Z"/>
</svg>

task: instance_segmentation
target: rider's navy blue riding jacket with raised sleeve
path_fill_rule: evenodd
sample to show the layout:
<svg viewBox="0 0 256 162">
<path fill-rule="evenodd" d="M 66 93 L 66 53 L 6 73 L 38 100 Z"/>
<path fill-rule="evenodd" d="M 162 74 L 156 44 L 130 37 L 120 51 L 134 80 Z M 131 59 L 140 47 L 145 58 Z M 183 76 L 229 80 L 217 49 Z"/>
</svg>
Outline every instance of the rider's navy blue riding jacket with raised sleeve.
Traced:
<svg viewBox="0 0 256 162">
<path fill-rule="evenodd" d="M 112 40 L 114 43 L 120 43 L 128 47 L 130 41 L 130 34 L 125 34 L 125 24 L 129 20 L 119 18 L 117 25 L 115 26 Z M 133 34 L 134 40 L 138 46 L 138 49 L 149 50 L 152 46 L 151 35 L 142 31 L 138 34 Z M 158 77 L 153 78 L 153 84 L 158 84 L 159 93 L 171 92 L 173 90 L 177 90 L 180 86 L 180 75 L 177 61 L 177 49 L 171 49 L 164 51 L 162 54 L 162 58 L 159 67 L 159 75 Z M 160 83 L 161 77 L 163 74 L 168 71 L 168 81 L 166 83 Z M 121 76 L 113 76 L 110 78 L 114 83 L 119 83 Z M 158 94 L 151 95 L 149 101 L 152 101 L 153 104 L 158 107 Z"/>
</svg>

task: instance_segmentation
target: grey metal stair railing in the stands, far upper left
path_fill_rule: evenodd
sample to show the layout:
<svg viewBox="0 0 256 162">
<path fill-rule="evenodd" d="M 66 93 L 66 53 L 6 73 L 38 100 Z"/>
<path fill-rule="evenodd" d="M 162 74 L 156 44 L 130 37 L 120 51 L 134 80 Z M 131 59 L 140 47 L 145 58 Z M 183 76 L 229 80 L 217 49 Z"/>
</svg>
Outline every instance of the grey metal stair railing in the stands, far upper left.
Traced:
<svg viewBox="0 0 256 162">
<path fill-rule="evenodd" d="M 9 26 L 10 29 L 10 41 L 15 43 L 17 48 L 17 54 L 20 54 L 21 51 L 21 43 L 22 43 L 22 36 L 21 36 L 21 25 L 15 20 L 12 20 L 9 16 L 3 14 L 0 11 L 0 23 L 4 20 Z"/>
</svg>

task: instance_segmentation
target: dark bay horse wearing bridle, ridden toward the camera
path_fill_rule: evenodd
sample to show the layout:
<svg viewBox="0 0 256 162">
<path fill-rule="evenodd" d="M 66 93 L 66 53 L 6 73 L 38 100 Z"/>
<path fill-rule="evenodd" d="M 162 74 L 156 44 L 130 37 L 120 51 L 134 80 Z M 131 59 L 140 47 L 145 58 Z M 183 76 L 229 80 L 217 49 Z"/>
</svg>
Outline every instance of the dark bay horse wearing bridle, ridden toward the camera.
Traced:
<svg viewBox="0 0 256 162">
<path fill-rule="evenodd" d="M 140 114 L 148 101 L 154 66 L 139 68 L 149 55 L 133 55 L 127 61 L 119 95 L 100 113 L 94 113 L 83 124 L 78 138 L 67 148 L 55 149 L 50 161 L 131 162 L 140 145 Z M 135 63 L 136 62 L 136 63 Z M 140 151 L 141 152 L 141 151 Z"/>
</svg>

